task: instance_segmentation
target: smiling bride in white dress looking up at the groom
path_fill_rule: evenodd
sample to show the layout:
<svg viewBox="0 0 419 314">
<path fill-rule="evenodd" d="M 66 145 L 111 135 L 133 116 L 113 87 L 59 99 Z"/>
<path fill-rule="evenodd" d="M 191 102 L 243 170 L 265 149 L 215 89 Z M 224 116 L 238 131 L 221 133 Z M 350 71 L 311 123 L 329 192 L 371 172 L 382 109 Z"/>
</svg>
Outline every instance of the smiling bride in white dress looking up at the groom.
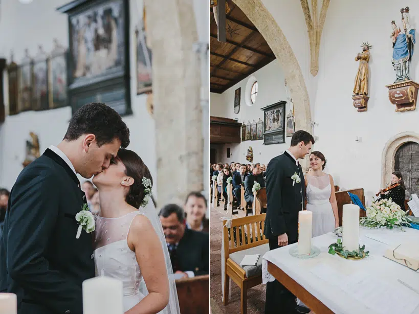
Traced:
<svg viewBox="0 0 419 314">
<path fill-rule="evenodd" d="M 320 236 L 339 227 L 338 204 L 335 184 L 330 174 L 323 172 L 326 165 L 319 151 L 310 154 L 311 173 L 305 175 L 307 206 L 313 212 L 313 237 Z"/>
</svg>

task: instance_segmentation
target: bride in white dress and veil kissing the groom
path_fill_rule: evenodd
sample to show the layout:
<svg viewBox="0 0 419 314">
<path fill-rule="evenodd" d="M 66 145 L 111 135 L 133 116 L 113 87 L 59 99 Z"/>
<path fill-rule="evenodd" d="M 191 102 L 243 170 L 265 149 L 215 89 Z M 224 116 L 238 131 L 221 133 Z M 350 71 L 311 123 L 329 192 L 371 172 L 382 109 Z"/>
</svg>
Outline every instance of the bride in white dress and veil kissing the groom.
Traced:
<svg viewBox="0 0 419 314">
<path fill-rule="evenodd" d="M 93 183 L 100 197 L 96 276 L 122 281 L 125 314 L 180 313 L 163 229 L 156 209 L 147 206 L 152 186 L 147 166 L 135 152 L 121 148 Z"/>
</svg>

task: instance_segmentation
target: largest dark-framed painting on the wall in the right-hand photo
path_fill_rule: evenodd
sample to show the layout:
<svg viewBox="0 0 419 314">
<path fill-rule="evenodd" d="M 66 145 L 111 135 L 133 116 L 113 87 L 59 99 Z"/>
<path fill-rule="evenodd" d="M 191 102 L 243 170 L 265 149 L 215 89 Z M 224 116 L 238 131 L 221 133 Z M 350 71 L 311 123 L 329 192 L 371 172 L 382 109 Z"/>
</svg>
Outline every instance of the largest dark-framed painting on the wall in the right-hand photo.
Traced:
<svg viewBox="0 0 419 314">
<path fill-rule="evenodd" d="M 280 101 L 263 110 L 263 144 L 285 143 L 285 103 Z"/>
</svg>

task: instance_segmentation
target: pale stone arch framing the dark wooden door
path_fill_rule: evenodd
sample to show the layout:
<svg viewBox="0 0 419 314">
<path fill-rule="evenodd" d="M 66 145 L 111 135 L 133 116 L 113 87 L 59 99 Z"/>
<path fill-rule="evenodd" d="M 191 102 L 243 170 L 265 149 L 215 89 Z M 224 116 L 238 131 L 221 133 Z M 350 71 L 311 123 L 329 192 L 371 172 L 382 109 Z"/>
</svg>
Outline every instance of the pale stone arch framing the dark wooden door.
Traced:
<svg viewBox="0 0 419 314">
<path fill-rule="evenodd" d="M 391 181 L 396 151 L 400 146 L 408 142 L 419 144 L 419 134 L 415 132 L 399 133 L 386 143 L 382 154 L 381 187 L 385 187 Z"/>
</svg>

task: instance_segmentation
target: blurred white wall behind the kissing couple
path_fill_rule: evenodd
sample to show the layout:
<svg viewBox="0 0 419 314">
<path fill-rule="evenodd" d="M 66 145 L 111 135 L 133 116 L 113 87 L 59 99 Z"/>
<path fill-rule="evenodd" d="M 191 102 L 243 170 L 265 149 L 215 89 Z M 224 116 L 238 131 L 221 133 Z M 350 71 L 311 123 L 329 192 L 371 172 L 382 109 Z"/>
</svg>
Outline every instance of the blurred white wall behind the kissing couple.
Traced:
<svg viewBox="0 0 419 314">
<path fill-rule="evenodd" d="M 13 51 L 14 60 L 19 63 L 24 57 L 26 48 L 29 49 L 31 56 L 37 53 L 39 44 L 42 45 L 43 50 L 50 52 L 53 49 L 54 38 L 58 38 L 64 47 L 68 47 L 68 15 L 56 10 L 57 7 L 68 2 L 70 1 L 36 0 L 27 5 L 19 1 L 2 2 L 0 57 L 6 58 L 9 62 L 10 52 Z M 153 178 L 156 178 L 156 141 L 152 132 L 155 122 L 146 110 L 146 95 L 137 96 L 135 80 L 134 31 L 142 14 L 143 1 L 130 0 L 129 6 L 130 77 L 132 78 L 130 88 L 133 115 L 124 117 L 123 120 L 130 129 L 131 143 L 128 148 L 141 156 Z M 209 12 L 206 4 L 194 0 L 194 6 L 199 40 L 208 42 L 209 30 L 205 18 L 208 18 Z M 207 15 L 202 12 L 206 12 Z M 7 85 L 7 82 L 5 84 Z M 27 139 L 30 139 L 30 131 L 38 135 L 42 153 L 50 145 L 56 145 L 62 140 L 70 118 L 70 107 L 40 112 L 28 111 L 16 116 L 7 116 L 5 123 L 0 126 L 0 187 L 10 189 L 23 169 L 21 163 L 25 159 L 25 143 Z"/>
</svg>

